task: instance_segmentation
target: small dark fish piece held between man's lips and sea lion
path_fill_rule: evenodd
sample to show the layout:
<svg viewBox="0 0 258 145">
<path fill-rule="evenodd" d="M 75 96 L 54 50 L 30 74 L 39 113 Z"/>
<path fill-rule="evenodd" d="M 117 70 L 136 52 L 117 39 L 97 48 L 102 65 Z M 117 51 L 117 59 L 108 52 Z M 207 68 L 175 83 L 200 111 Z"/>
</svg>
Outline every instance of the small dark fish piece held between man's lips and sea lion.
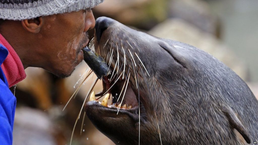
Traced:
<svg viewBox="0 0 258 145">
<path fill-rule="evenodd" d="M 97 75 L 99 79 L 110 74 L 109 67 L 104 59 L 86 46 L 83 50 L 84 61 L 92 69 L 92 71 Z"/>
</svg>

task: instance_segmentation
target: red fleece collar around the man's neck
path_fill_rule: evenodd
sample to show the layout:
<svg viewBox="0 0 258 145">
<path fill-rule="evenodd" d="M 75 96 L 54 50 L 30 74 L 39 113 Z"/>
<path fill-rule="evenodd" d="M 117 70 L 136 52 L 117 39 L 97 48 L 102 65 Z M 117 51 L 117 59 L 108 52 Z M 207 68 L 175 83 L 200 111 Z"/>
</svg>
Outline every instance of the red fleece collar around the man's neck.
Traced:
<svg viewBox="0 0 258 145">
<path fill-rule="evenodd" d="M 9 51 L 6 59 L 1 65 L 4 75 L 8 81 L 9 87 L 17 84 L 21 80 L 25 79 L 26 74 L 21 63 L 21 60 L 13 47 L 6 41 L 6 39 L 0 34 L 0 44 L 4 45 Z"/>
</svg>

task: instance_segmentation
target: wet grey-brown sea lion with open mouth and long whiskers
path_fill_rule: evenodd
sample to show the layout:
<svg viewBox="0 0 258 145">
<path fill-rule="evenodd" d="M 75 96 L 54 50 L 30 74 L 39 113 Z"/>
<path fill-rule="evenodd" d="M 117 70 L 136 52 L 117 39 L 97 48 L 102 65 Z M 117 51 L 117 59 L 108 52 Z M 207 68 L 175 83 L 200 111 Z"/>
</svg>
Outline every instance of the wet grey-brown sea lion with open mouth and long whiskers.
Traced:
<svg viewBox="0 0 258 145">
<path fill-rule="evenodd" d="M 95 30 L 95 50 L 113 72 L 96 96 L 109 92 L 114 98 L 109 105 L 109 94 L 97 102 L 92 93 L 85 111 L 115 144 L 235 145 L 258 140 L 258 101 L 212 55 L 107 17 L 96 20 Z"/>
</svg>

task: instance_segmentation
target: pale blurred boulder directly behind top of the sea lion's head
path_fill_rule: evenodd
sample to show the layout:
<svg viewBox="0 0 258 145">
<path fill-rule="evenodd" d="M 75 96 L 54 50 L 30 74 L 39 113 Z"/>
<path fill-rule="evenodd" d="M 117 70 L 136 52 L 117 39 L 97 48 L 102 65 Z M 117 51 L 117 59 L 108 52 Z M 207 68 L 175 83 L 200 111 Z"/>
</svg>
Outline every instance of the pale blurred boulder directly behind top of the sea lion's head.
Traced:
<svg viewBox="0 0 258 145">
<path fill-rule="evenodd" d="M 243 62 L 228 47 L 212 34 L 206 33 L 182 19 L 168 19 L 151 29 L 149 34 L 193 45 L 225 63 L 242 79 L 247 78 Z"/>
</svg>

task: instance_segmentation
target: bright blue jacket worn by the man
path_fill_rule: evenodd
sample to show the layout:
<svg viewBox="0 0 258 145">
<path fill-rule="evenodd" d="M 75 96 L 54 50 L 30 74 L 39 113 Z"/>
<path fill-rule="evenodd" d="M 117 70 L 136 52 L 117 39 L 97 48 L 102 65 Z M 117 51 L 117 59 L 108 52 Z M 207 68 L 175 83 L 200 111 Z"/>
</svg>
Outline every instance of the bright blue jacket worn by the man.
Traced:
<svg viewBox="0 0 258 145">
<path fill-rule="evenodd" d="M 8 50 L 0 44 L 0 65 L 8 55 Z M 10 91 L 8 82 L 0 67 L 0 145 L 11 145 L 13 142 L 13 122 L 16 98 Z"/>
</svg>

